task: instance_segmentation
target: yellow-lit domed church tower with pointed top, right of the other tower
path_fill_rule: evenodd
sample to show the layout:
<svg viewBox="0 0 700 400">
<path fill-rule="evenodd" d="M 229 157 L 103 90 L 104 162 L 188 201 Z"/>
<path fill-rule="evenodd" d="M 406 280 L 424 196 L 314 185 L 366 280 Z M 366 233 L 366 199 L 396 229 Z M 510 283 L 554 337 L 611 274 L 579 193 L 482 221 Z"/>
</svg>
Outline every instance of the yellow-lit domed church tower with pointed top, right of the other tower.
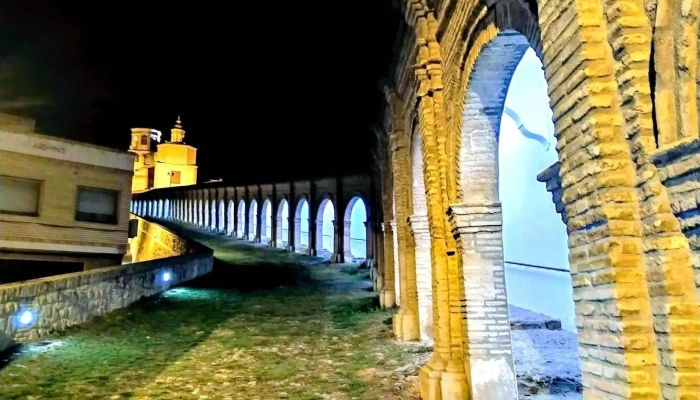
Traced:
<svg viewBox="0 0 700 400">
<path fill-rule="evenodd" d="M 180 116 L 170 130 L 170 142 L 158 145 L 155 169 L 155 188 L 197 183 L 197 149 L 185 144 Z"/>
</svg>

